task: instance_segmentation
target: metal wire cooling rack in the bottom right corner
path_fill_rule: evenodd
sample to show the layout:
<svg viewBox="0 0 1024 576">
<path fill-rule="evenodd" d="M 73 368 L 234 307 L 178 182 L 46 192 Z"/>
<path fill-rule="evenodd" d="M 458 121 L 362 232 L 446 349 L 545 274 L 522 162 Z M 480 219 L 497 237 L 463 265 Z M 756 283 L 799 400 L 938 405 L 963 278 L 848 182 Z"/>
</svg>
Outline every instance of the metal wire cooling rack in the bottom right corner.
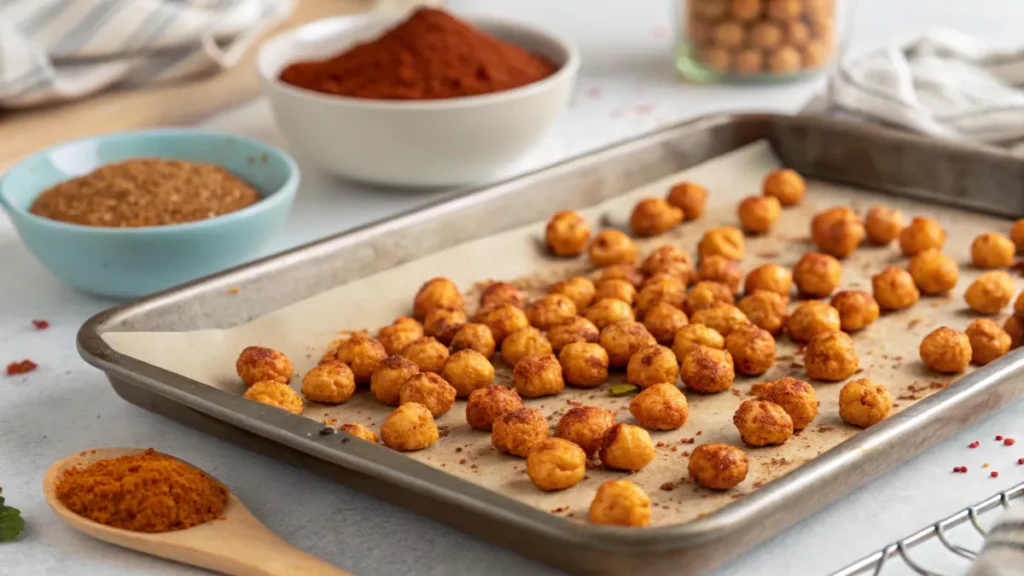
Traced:
<svg viewBox="0 0 1024 576">
<path fill-rule="evenodd" d="M 893 542 L 833 576 L 964 574 L 981 550 L 986 524 L 990 526 L 1001 516 L 998 511 L 1011 504 L 1024 505 L 1024 483 Z"/>
</svg>

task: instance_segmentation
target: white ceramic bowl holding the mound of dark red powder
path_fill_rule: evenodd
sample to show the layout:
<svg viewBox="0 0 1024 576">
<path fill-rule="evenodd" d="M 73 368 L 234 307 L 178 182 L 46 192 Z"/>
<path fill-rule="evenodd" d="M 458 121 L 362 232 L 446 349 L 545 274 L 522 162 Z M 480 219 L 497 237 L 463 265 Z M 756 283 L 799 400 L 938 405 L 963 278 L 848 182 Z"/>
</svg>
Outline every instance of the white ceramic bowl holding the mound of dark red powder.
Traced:
<svg viewBox="0 0 1024 576">
<path fill-rule="evenodd" d="M 580 67 L 564 38 L 488 17 L 468 22 L 556 66 L 534 84 L 479 96 L 373 100 L 285 84 L 288 65 L 337 54 L 398 17 L 342 16 L 286 31 L 260 48 L 257 68 L 278 125 L 300 156 L 343 177 L 403 187 L 464 184 L 494 176 L 544 138 L 565 109 Z"/>
</svg>

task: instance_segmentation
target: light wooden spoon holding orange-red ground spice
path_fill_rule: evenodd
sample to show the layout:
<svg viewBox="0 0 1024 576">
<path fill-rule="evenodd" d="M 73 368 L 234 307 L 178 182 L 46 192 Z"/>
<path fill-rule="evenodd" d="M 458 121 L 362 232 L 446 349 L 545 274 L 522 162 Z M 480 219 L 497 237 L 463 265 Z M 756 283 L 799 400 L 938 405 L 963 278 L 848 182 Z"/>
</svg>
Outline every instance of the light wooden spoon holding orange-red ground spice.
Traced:
<svg viewBox="0 0 1024 576">
<path fill-rule="evenodd" d="M 256 520 L 230 490 L 227 490 L 223 518 L 185 530 L 158 534 L 132 532 L 93 522 L 71 511 L 56 497 L 57 480 L 65 470 L 140 452 L 143 450 L 138 448 L 102 448 L 68 456 L 53 464 L 43 479 L 46 501 L 60 520 L 93 538 L 222 574 L 351 576 L 279 538 Z"/>
</svg>

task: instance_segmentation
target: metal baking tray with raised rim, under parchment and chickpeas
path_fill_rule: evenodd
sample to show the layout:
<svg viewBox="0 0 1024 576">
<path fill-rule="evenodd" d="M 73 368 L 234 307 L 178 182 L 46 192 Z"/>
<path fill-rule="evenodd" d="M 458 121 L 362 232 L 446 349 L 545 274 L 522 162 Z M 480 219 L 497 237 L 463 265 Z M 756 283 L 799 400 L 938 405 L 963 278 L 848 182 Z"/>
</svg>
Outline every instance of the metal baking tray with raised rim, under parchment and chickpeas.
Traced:
<svg viewBox="0 0 1024 576">
<path fill-rule="evenodd" d="M 347 435 L 321 435 L 322 424 L 311 419 L 263 410 L 118 354 L 101 334 L 234 326 L 446 247 L 541 221 L 553 202 L 591 206 L 759 139 L 812 178 L 1024 216 L 1024 162 L 1009 154 L 821 118 L 714 116 L 119 305 L 82 327 L 79 351 L 128 402 L 570 573 L 625 574 L 637 567 L 650 574 L 701 573 L 1019 395 L 1024 381 L 1010 376 L 1024 367 L 1024 355 L 976 370 L 709 516 L 630 530 L 559 518 Z"/>
</svg>

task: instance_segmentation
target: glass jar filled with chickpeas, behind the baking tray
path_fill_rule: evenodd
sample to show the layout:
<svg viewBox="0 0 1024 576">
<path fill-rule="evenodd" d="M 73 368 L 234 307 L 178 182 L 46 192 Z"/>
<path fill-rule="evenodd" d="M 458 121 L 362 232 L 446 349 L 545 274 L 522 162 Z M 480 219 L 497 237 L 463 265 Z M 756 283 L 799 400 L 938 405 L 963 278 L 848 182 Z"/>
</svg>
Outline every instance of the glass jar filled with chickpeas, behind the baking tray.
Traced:
<svg viewBox="0 0 1024 576">
<path fill-rule="evenodd" d="M 843 0 L 677 0 L 676 67 L 696 82 L 778 82 L 841 52 Z"/>
</svg>

